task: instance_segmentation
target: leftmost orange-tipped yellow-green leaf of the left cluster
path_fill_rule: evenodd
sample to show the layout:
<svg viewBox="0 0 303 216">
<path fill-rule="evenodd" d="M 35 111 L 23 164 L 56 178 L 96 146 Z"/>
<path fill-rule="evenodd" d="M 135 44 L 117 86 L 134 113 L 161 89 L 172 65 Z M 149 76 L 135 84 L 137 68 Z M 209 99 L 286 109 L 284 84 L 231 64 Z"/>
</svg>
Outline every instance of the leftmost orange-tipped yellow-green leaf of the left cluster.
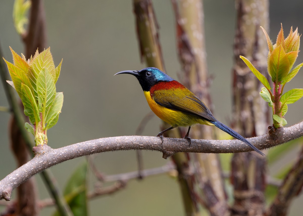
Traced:
<svg viewBox="0 0 303 216">
<path fill-rule="evenodd" d="M 21 83 L 24 83 L 27 86 L 31 86 L 30 82 L 29 82 L 28 78 L 26 77 L 25 73 L 20 68 L 16 67 L 12 63 L 6 61 L 5 59 L 4 59 L 4 61 L 7 64 L 7 68 L 8 68 L 9 74 L 11 75 L 15 89 L 16 89 L 19 97 L 22 98 Z"/>
</svg>

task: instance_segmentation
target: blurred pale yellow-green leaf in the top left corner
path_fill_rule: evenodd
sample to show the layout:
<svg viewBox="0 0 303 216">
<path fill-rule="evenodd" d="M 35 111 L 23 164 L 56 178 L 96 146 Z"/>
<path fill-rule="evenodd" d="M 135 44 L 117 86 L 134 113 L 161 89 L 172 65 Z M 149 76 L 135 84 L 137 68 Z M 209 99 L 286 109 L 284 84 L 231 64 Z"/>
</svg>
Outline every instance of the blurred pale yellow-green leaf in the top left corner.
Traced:
<svg viewBox="0 0 303 216">
<path fill-rule="evenodd" d="M 26 16 L 28 9 L 31 6 L 31 1 L 27 0 L 15 0 L 13 8 L 13 19 L 16 31 L 18 34 L 24 34 L 24 25 L 28 23 L 28 18 Z"/>
</svg>

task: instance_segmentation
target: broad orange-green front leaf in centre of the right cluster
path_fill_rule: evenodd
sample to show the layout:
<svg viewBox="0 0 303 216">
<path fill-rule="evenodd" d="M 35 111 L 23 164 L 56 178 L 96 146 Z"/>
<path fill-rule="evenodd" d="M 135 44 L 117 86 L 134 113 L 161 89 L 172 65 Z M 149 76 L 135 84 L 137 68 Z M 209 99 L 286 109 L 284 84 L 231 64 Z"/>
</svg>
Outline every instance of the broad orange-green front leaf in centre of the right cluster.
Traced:
<svg viewBox="0 0 303 216">
<path fill-rule="evenodd" d="M 273 49 L 268 63 L 268 72 L 273 82 L 281 82 L 287 77 L 290 62 L 281 45 Z"/>
</svg>

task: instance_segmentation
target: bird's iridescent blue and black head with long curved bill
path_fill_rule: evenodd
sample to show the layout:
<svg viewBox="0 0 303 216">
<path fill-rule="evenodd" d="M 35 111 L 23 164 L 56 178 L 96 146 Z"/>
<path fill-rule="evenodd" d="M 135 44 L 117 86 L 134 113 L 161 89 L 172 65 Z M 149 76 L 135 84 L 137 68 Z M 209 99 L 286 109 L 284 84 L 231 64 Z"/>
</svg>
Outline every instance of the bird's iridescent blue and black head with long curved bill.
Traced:
<svg viewBox="0 0 303 216">
<path fill-rule="evenodd" d="M 123 70 L 117 74 L 132 74 L 137 77 L 143 91 L 149 91 L 150 88 L 159 81 L 172 81 L 174 80 L 167 74 L 155 67 L 146 67 L 142 70 Z M 117 75 L 115 74 L 115 75 Z M 114 76 L 115 76 L 114 75 Z"/>
</svg>

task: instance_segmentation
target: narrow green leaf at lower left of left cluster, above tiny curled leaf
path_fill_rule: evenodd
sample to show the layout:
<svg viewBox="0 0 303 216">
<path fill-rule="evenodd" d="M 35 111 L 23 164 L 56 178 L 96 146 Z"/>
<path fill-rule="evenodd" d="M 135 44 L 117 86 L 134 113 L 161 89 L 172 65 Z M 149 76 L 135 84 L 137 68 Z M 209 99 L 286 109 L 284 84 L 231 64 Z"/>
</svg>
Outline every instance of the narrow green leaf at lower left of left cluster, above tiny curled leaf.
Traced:
<svg viewBox="0 0 303 216">
<path fill-rule="evenodd" d="M 24 106 L 24 114 L 29 117 L 32 124 L 40 121 L 38 106 L 28 86 L 22 83 L 22 103 Z"/>
</svg>

